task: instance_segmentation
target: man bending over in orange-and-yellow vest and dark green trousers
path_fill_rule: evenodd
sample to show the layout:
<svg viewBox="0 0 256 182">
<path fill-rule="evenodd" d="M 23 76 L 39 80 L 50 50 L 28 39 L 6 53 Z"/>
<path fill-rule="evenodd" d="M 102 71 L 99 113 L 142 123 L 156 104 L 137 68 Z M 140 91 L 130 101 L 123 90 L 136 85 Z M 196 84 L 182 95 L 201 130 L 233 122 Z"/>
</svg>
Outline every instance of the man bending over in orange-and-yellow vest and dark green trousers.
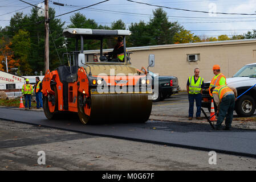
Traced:
<svg viewBox="0 0 256 182">
<path fill-rule="evenodd" d="M 216 130 L 221 129 L 221 123 L 224 121 L 225 117 L 226 127 L 224 130 L 230 130 L 233 119 L 235 101 L 237 100 L 237 89 L 231 86 L 221 85 L 217 86 L 216 88 L 212 88 L 210 92 L 212 92 L 213 100 L 218 108 Z"/>
</svg>

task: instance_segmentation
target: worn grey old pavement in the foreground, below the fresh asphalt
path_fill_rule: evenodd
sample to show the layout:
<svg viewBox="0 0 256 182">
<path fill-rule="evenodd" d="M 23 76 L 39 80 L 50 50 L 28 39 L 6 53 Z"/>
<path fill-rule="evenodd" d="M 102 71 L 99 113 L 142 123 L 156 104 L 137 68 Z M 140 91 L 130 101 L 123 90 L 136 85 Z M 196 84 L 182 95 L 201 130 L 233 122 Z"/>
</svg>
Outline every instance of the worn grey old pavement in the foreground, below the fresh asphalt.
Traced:
<svg viewBox="0 0 256 182">
<path fill-rule="evenodd" d="M 44 164 L 38 164 L 38 151 L 45 152 Z M 100 174 L 92 172 L 100 170 L 116 174 L 126 170 L 155 173 L 161 170 L 167 172 L 166 177 L 173 178 L 174 173 L 169 171 L 256 170 L 255 158 L 219 152 L 216 154 L 216 163 L 209 163 L 211 158 L 209 151 L 92 136 L 0 119 L 1 171 L 90 170 L 83 173 L 87 177 L 92 175 L 94 181 L 103 181 Z M 156 179 L 159 179 L 157 176 Z"/>
</svg>

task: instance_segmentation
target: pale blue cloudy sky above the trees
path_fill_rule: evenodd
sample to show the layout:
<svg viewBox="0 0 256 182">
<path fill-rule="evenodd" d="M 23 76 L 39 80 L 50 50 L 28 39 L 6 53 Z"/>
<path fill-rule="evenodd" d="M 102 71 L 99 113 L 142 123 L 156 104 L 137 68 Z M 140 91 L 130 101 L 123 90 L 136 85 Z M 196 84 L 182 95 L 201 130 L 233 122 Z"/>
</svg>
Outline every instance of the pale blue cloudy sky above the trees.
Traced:
<svg viewBox="0 0 256 182">
<path fill-rule="evenodd" d="M 37 5 L 43 0 L 23 0 L 33 5 Z M 49 6 L 54 8 L 56 15 L 64 14 L 69 11 L 80 9 L 104 0 L 49 0 Z M 256 14 L 256 0 L 134 0 L 137 2 L 149 3 L 151 5 L 166 6 L 177 9 L 219 12 L 219 13 L 238 13 Z M 54 5 L 54 2 L 63 3 L 64 6 Z M 30 14 L 32 7 L 19 0 L 0 0 L 0 26 L 3 28 L 9 25 L 9 20 L 16 12 Z M 21 10 L 22 9 L 22 10 Z M 66 25 L 70 22 L 70 16 L 80 12 L 86 18 L 94 19 L 96 23 L 110 26 L 116 20 L 123 20 L 126 28 L 131 23 L 145 23 L 153 17 L 152 11 L 157 9 L 155 6 L 143 5 L 127 0 L 109 0 L 99 5 L 92 6 L 59 16 Z M 209 14 L 192 11 L 173 10 L 163 8 L 167 13 L 170 22 L 180 23 L 186 30 L 190 30 L 194 35 L 204 38 L 204 36 L 218 36 L 222 34 L 233 35 L 245 34 L 247 31 L 256 29 L 256 15 L 228 15 L 228 14 Z M 119 11 L 123 13 L 117 13 Z"/>
</svg>

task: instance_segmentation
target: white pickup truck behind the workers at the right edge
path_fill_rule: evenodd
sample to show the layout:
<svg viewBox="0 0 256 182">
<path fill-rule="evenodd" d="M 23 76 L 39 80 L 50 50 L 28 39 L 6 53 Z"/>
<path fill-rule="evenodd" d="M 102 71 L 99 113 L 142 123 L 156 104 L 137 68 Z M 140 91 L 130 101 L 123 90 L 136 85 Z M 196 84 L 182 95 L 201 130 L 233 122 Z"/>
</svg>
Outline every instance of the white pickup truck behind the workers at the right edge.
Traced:
<svg viewBox="0 0 256 182">
<path fill-rule="evenodd" d="M 256 63 L 246 64 L 231 78 L 227 78 L 227 86 L 237 89 L 238 96 L 246 92 L 247 89 L 256 84 Z M 205 83 L 202 93 L 202 107 L 210 109 L 211 97 L 206 90 L 209 88 L 210 82 Z M 255 112 L 256 107 L 256 86 L 243 94 L 235 102 L 235 112 L 240 117 L 250 117 Z"/>
</svg>

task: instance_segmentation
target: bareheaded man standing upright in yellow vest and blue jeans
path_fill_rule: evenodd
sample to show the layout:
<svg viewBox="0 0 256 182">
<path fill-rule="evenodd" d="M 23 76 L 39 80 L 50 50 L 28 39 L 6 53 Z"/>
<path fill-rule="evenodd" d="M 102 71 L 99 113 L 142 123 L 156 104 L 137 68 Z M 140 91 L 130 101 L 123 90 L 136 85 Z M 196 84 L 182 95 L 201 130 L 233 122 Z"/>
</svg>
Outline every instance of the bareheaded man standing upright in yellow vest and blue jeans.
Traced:
<svg viewBox="0 0 256 182">
<path fill-rule="evenodd" d="M 189 120 L 192 120 L 194 113 L 194 100 L 196 100 L 196 119 L 201 118 L 202 88 L 204 88 L 204 78 L 199 76 L 199 68 L 194 69 L 194 76 L 190 76 L 186 83 L 186 90 L 189 97 Z"/>
</svg>

